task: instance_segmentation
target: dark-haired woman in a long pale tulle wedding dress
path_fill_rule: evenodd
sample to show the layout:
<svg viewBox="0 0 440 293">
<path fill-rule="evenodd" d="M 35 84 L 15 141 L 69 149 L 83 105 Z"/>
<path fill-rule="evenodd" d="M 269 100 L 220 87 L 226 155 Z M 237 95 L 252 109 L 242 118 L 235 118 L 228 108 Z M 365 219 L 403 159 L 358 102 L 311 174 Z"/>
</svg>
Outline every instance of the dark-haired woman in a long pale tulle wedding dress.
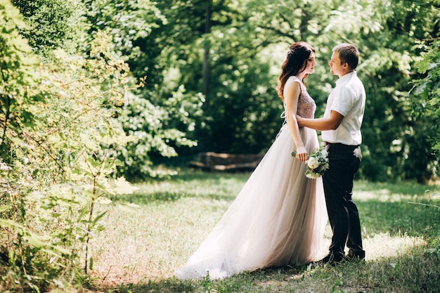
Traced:
<svg viewBox="0 0 440 293">
<path fill-rule="evenodd" d="M 296 115 L 313 118 L 316 110 L 303 84 L 315 65 L 309 44 L 290 46 L 277 86 L 285 123 L 231 207 L 174 273 L 176 278 L 209 275 L 214 280 L 270 266 L 301 266 L 316 258 L 327 211 L 322 178 L 306 178 L 304 162 L 318 148 L 318 136 L 313 129 L 299 129 L 296 120 Z"/>
</svg>

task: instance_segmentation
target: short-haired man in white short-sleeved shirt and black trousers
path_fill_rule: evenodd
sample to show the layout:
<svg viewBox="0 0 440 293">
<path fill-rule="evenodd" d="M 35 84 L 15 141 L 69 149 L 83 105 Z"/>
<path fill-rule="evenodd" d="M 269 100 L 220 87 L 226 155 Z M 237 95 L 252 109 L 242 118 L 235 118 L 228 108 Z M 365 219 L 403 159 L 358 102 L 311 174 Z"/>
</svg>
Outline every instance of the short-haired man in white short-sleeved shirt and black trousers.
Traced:
<svg viewBox="0 0 440 293">
<path fill-rule="evenodd" d="M 340 44 L 332 49 L 330 72 L 339 77 L 327 100 L 323 118 L 297 116 L 299 126 L 321 131 L 328 150 L 329 168 L 323 175 L 325 202 L 333 236 L 329 254 L 318 264 L 334 266 L 342 261 L 364 259 L 361 223 L 351 196 L 354 174 L 361 164 L 361 124 L 365 89 L 356 74 L 356 46 Z M 346 255 L 344 248 L 349 252 Z"/>
</svg>

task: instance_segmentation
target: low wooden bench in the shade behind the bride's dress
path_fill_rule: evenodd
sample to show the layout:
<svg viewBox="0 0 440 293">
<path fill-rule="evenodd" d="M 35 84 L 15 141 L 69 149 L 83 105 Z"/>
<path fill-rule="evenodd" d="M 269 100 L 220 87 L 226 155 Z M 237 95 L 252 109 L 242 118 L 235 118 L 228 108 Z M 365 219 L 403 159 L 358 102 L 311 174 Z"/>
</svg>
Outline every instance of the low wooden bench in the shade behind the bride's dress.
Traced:
<svg viewBox="0 0 440 293">
<path fill-rule="evenodd" d="M 209 171 L 254 170 L 263 158 L 264 153 L 252 155 L 235 155 L 217 152 L 200 152 L 198 162 L 190 162 L 191 167 Z"/>
</svg>

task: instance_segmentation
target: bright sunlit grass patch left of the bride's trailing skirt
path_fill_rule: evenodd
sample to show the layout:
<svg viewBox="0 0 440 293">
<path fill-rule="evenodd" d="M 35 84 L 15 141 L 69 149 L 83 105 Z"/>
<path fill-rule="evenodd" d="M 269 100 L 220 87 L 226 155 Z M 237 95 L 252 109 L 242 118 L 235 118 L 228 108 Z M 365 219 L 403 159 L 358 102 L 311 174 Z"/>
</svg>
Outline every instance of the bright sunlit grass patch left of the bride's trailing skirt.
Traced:
<svg viewBox="0 0 440 293">
<path fill-rule="evenodd" d="M 202 242 L 230 202 L 183 198 L 130 213 L 115 209 L 96 237 L 95 277 L 108 285 L 169 278 Z"/>
</svg>

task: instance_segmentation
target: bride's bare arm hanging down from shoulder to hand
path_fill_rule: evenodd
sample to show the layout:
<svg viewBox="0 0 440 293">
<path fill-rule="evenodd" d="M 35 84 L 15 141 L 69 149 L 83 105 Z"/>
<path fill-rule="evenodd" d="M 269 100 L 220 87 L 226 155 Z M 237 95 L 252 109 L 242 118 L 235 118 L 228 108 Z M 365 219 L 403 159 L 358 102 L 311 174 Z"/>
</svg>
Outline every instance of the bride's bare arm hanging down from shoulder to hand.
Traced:
<svg viewBox="0 0 440 293">
<path fill-rule="evenodd" d="M 292 135 L 295 145 L 297 145 L 297 158 L 301 162 L 305 162 L 307 159 L 307 150 L 304 147 L 302 138 L 299 135 L 299 127 L 297 122 L 297 108 L 298 108 L 298 98 L 299 93 L 301 93 L 301 87 L 298 82 L 292 82 L 286 84 L 284 89 L 284 100 L 285 100 L 285 117 L 287 125 L 289 126 L 290 134 Z"/>
</svg>

